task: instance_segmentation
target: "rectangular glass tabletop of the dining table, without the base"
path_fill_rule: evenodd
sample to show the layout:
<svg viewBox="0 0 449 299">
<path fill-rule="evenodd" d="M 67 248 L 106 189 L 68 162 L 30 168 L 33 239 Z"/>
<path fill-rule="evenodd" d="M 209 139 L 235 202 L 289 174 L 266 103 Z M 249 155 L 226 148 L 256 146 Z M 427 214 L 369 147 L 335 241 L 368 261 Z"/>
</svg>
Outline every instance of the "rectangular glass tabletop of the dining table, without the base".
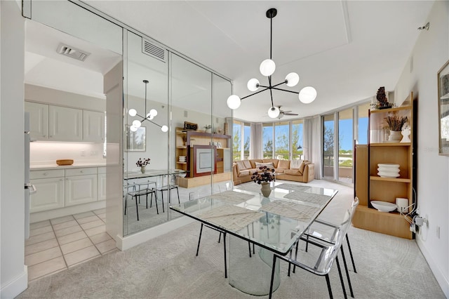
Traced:
<svg viewBox="0 0 449 299">
<path fill-rule="evenodd" d="M 269 197 L 255 191 L 234 189 L 170 208 L 269 251 L 286 255 L 335 194 L 336 190 L 321 187 L 276 184 Z"/>
</svg>

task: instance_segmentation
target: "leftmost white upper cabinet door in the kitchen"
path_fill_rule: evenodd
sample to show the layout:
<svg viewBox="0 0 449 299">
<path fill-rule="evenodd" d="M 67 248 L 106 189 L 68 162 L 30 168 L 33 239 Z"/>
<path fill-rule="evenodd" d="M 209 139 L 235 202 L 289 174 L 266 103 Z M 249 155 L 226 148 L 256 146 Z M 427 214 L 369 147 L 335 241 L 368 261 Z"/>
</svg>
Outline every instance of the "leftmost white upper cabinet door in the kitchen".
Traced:
<svg viewBox="0 0 449 299">
<path fill-rule="evenodd" d="M 34 140 L 48 140 L 48 105 L 25 102 L 29 112 L 29 134 Z"/>
</svg>

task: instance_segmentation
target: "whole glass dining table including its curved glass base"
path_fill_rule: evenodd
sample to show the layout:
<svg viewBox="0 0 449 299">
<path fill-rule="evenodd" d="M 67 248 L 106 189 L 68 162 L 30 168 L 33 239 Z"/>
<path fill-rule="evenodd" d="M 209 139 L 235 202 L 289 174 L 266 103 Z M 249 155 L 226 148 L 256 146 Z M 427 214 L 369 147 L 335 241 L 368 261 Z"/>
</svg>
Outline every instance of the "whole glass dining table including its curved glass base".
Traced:
<svg viewBox="0 0 449 299">
<path fill-rule="evenodd" d="M 260 185 L 243 185 L 170 208 L 229 235 L 229 284 L 251 295 L 269 293 L 273 254 L 286 255 L 337 190 L 272 182 L 263 197 Z M 242 241 L 243 240 L 243 241 Z M 257 253 L 250 258 L 248 242 Z M 279 263 L 274 270 L 279 287 Z"/>
</svg>

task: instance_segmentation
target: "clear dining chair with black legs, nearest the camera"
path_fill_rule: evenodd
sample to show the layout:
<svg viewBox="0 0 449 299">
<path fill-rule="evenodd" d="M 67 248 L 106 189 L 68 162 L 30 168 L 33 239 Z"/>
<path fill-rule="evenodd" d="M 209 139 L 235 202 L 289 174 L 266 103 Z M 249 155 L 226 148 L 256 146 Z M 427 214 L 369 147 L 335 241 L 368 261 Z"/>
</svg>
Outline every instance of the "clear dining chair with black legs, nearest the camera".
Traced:
<svg viewBox="0 0 449 299">
<path fill-rule="evenodd" d="M 351 221 L 354 217 L 354 213 L 356 210 L 356 206 L 358 205 L 358 198 L 356 197 L 351 205 L 351 208 L 349 208 L 344 213 L 344 221 L 338 226 L 338 234 L 336 234 L 337 237 L 335 237 L 334 242 L 326 242 L 320 239 L 316 238 L 307 238 L 306 235 L 302 235 L 300 238 L 302 241 L 306 241 L 307 245 L 312 244 L 316 248 L 312 251 L 304 251 L 302 254 L 298 255 L 297 248 L 299 241 L 296 244 L 296 250 L 295 250 L 295 256 L 293 257 L 292 251 L 290 251 L 290 255 L 282 256 L 282 255 L 276 255 L 274 254 L 273 258 L 273 271 L 272 271 L 272 279 L 270 284 L 270 292 L 269 292 L 269 298 L 272 298 L 272 289 L 273 289 L 273 279 L 274 279 L 274 269 L 276 266 L 276 260 L 285 260 L 288 262 L 288 276 L 290 276 L 290 266 L 293 265 L 293 272 L 295 272 L 295 267 L 300 267 L 303 270 L 306 270 L 308 272 L 311 272 L 312 274 L 316 274 L 319 276 L 326 277 L 326 284 L 328 286 L 328 293 L 329 297 L 333 298 L 332 288 L 330 287 L 330 279 L 329 279 L 329 272 L 330 269 L 334 263 L 334 261 L 337 263 L 337 270 L 340 277 L 340 283 L 342 285 L 343 295 L 344 298 L 347 298 L 346 288 L 344 287 L 344 281 L 342 277 L 342 271 L 340 267 L 340 261 L 338 260 L 338 253 L 341 251 L 341 246 L 344 243 L 345 236 L 347 234 L 347 231 L 349 230 L 349 227 L 351 227 Z M 313 225 L 313 224 L 312 224 Z M 343 260 L 344 260 L 344 253 L 342 253 Z M 344 260 L 344 264 L 346 264 Z M 354 297 L 354 294 L 352 292 L 351 287 L 351 280 L 349 278 L 349 274 L 347 272 L 347 266 L 345 265 L 349 289 L 351 291 L 351 296 Z"/>
</svg>

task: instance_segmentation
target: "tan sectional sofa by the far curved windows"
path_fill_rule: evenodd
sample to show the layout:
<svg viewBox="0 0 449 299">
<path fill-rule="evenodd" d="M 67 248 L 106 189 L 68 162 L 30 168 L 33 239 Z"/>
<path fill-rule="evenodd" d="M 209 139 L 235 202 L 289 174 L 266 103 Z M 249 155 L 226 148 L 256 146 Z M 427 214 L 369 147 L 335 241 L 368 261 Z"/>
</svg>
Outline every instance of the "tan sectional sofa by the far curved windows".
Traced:
<svg viewBox="0 0 449 299">
<path fill-rule="evenodd" d="M 315 164 L 307 160 L 250 159 L 234 161 L 232 166 L 234 185 L 249 182 L 258 166 L 274 167 L 276 179 L 279 180 L 294 180 L 295 182 L 314 180 Z"/>
</svg>

